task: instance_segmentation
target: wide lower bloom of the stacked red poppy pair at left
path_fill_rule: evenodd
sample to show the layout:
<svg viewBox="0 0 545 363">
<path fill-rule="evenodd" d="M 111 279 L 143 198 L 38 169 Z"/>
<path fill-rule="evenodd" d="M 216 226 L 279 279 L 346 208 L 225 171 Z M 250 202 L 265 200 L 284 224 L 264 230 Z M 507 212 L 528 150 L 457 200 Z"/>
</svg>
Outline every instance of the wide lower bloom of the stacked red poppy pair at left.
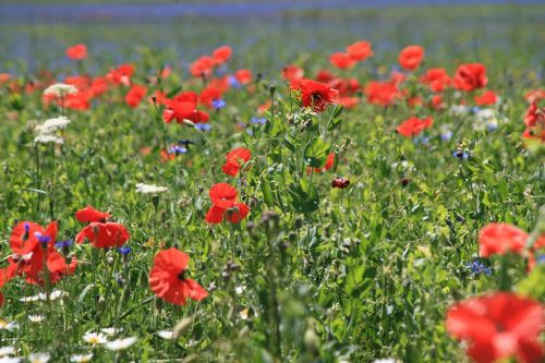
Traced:
<svg viewBox="0 0 545 363">
<path fill-rule="evenodd" d="M 76 234 L 75 241 L 83 243 L 86 239 L 94 247 L 106 249 L 122 246 L 130 238 L 129 231 L 120 223 L 92 222 Z"/>
</svg>

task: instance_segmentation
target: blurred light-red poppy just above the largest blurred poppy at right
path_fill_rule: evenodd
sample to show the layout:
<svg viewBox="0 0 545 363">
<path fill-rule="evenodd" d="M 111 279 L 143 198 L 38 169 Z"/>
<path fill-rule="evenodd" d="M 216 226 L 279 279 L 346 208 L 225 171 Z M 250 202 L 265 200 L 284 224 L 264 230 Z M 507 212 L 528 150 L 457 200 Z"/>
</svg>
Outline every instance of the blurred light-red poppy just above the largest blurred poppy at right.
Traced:
<svg viewBox="0 0 545 363">
<path fill-rule="evenodd" d="M 491 223 L 479 233 L 479 255 L 502 255 L 507 252 L 522 253 L 528 233 L 507 223 Z"/>
</svg>

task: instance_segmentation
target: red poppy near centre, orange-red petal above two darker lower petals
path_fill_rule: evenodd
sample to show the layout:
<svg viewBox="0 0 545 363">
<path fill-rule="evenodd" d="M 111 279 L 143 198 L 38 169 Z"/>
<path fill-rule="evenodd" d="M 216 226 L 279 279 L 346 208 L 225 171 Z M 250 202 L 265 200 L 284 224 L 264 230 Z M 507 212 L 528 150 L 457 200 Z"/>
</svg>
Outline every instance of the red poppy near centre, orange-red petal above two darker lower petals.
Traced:
<svg viewBox="0 0 545 363">
<path fill-rule="evenodd" d="M 237 202 L 239 192 L 226 183 L 218 183 L 208 192 L 213 206 L 206 214 L 208 223 L 221 223 L 227 220 L 238 223 L 250 213 L 250 207 L 244 203 Z"/>
</svg>

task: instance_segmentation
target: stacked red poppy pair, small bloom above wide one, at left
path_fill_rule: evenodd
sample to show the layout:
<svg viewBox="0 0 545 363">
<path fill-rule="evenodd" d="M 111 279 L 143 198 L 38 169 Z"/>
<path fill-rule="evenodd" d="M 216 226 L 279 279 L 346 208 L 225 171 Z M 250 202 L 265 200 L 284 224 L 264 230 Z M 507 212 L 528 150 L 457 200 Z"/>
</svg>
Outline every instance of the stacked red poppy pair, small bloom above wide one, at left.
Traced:
<svg viewBox="0 0 545 363">
<path fill-rule="evenodd" d="M 108 222 L 110 214 L 86 206 L 75 214 L 81 222 L 88 223 L 75 237 L 77 243 L 85 240 L 96 249 L 119 247 L 131 238 L 129 231 L 120 223 Z"/>
</svg>

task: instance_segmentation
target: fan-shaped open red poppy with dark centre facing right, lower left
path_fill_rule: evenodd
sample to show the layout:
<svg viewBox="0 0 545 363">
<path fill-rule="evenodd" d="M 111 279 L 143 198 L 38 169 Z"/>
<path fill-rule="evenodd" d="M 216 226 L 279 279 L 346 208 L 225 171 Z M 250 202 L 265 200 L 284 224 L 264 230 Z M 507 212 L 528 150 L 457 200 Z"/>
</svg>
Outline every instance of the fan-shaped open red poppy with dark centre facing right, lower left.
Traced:
<svg viewBox="0 0 545 363">
<path fill-rule="evenodd" d="M 196 281 L 186 278 L 190 257 L 177 249 L 159 251 L 149 271 L 154 293 L 175 305 L 185 305 L 187 299 L 201 301 L 208 293 Z"/>
</svg>

